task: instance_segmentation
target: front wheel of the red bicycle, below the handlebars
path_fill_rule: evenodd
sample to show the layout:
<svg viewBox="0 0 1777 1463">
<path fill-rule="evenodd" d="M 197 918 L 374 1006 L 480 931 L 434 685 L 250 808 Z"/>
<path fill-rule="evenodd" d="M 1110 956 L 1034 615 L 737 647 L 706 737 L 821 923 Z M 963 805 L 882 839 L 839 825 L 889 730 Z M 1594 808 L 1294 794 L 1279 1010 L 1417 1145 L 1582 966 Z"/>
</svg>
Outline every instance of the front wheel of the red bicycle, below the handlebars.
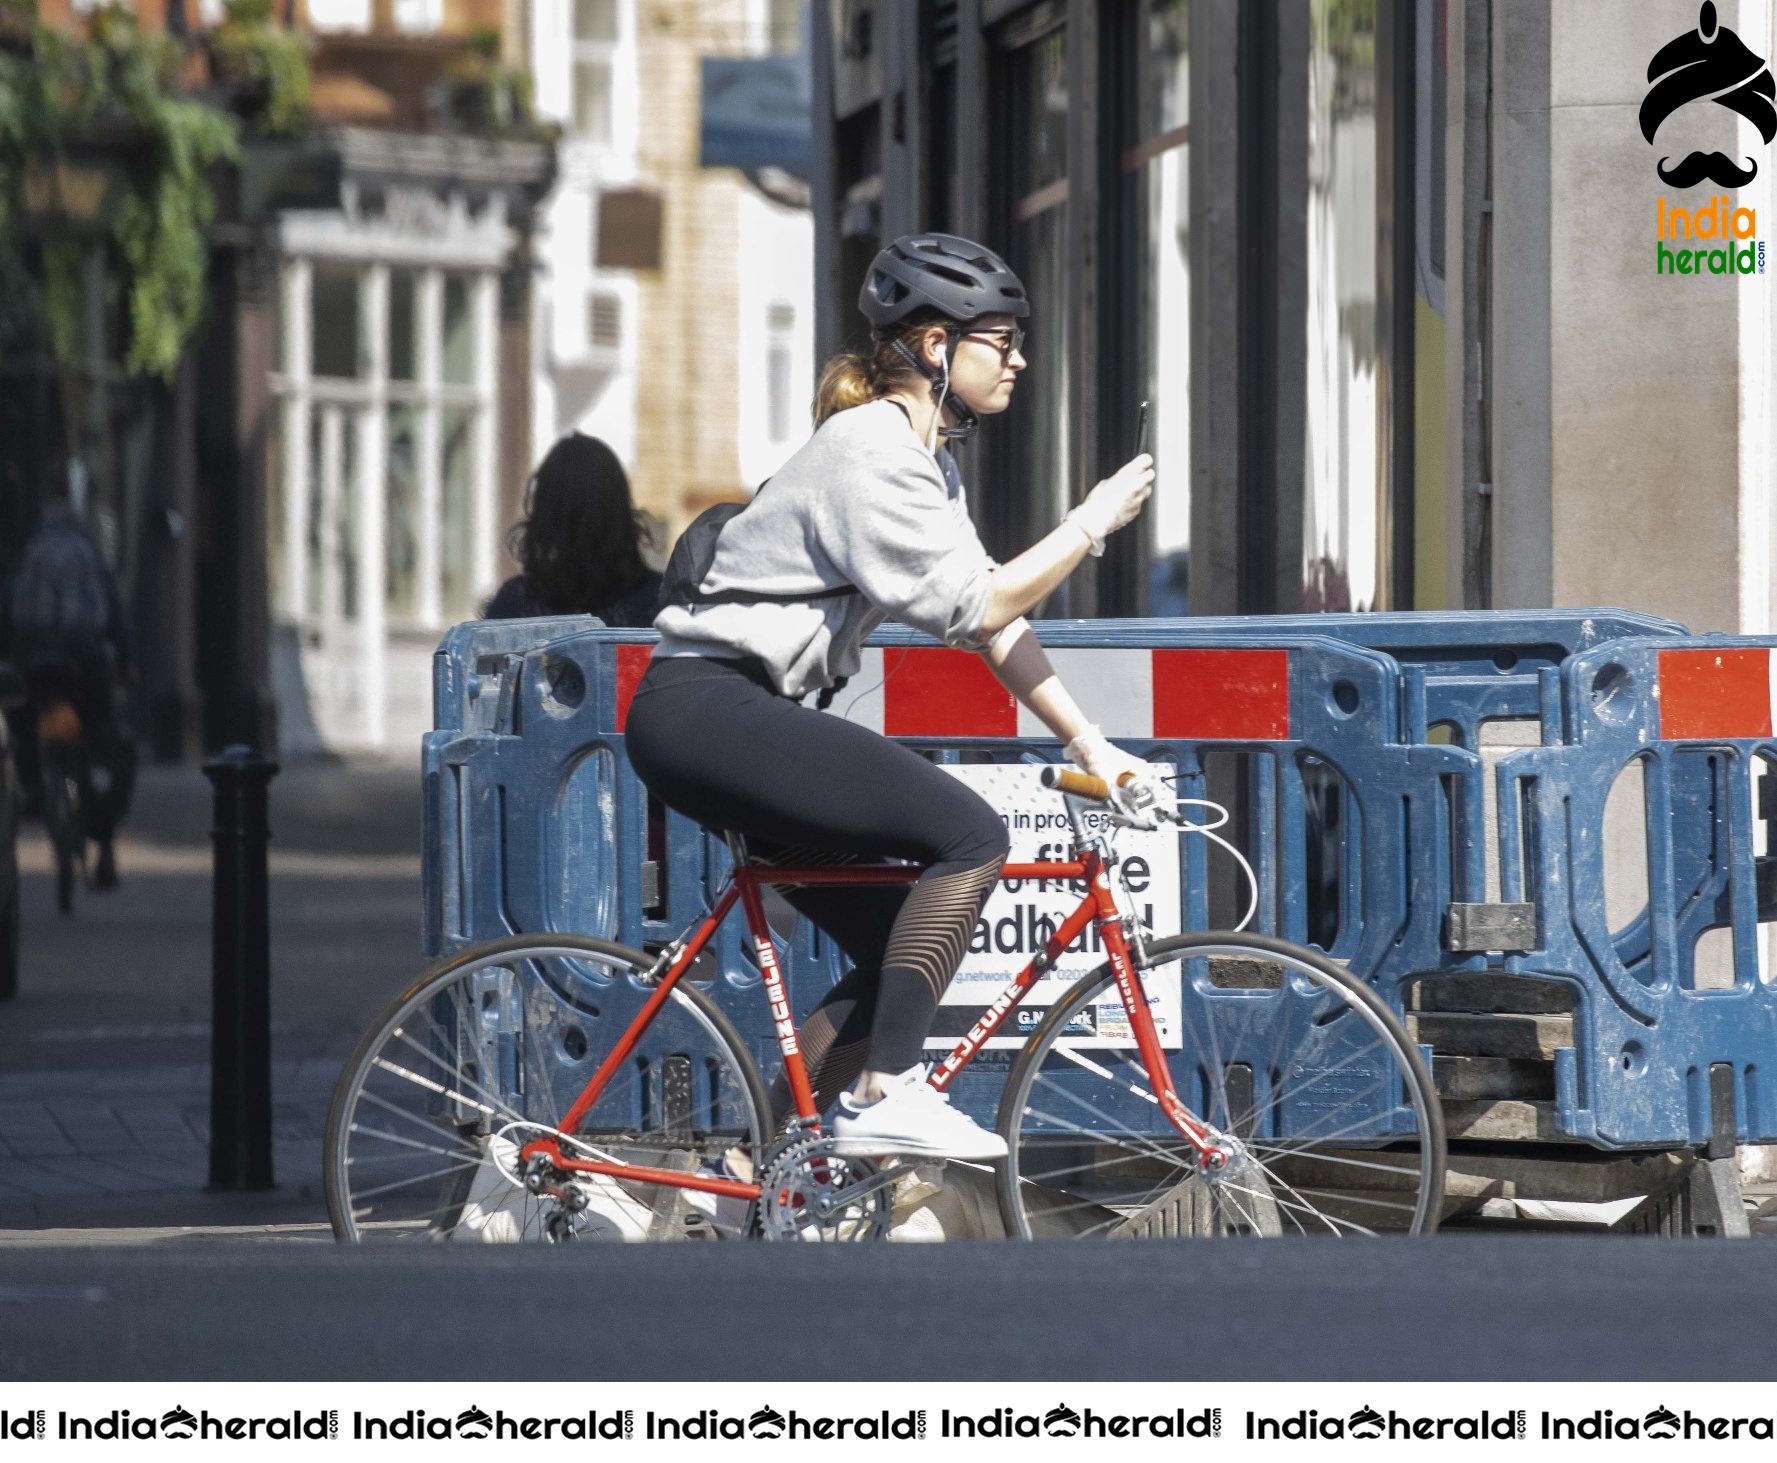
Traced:
<svg viewBox="0 0 1777 1463">
<path fill-rule="evenodd" d="M 1269 935 L 1148 946 L 1173 1006 L 1173 1090 L 1215 1134 L 1210 1171 L 1166 1120 L 1111 967 L 1050 1008 L 1013 1063 L 999 1131 L 1008 1234 L 1031 1237 L 1429 1234 L 1443 1111 L 1418 1049 L 1370 987 Z"/>
</svg>

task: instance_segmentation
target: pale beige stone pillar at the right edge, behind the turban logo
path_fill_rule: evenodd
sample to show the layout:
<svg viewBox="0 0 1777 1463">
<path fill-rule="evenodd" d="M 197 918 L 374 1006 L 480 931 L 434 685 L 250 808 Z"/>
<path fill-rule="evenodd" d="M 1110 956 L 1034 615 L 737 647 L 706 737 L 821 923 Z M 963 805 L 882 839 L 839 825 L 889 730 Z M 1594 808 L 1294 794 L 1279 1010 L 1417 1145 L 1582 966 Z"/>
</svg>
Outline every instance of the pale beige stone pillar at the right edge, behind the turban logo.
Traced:
<svg viewBox="0 0 1777 1463">
<path fill-rule="evenodd" d="M 1473 560 L 1489 530 L 1500 608 L 1621 604 L 1697 631 L 1765 629 L 1765 340 L 1777 281 L 1661 276 L 1656 244 L 1709 240 L 1658 240 L 1656 208 L 1733 196 L 1729 206 L 1756 208 L 1763 233 L 1777 226 L 1777 210 L 1759 206 L 1777 158 L 1708 98 L 1665 119 L 1654 146 L 1642 137 L 1647 64 L 1697 30 L 1693 0 L 1478 9 L 1450 7 L 1452 44 L 1470 48 L 1462 64 L 1452 57 L 1454 116 L 1459 76 L 1468 94 L 1448 151 L 1450 236 L 1464 251 L 1448 315 L 1450 466 L 1471 508 L 1452 539 Z M 1761 5 L 1715 9 L 1768 53 Z M 1738 192 L 1661 183 L 1656 164 L 1693 149 L 1756 156 L 1761 176 Z M 1470 338 L 1455 327 L 1477 309 Z"/>
</svg>

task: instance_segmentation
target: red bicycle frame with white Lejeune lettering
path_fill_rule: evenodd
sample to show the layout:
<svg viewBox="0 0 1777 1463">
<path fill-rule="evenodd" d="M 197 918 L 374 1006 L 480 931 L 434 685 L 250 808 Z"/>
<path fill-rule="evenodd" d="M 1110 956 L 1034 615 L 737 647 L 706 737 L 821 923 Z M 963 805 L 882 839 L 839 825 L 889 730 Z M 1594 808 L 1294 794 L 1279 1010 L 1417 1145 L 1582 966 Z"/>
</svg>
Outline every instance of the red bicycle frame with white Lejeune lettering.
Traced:
<svg viewBox="0 0 1777 1463">
<path fill-rule="evenodd" d="M 761 889 L 775 883 L 839 887 L 913 883 L 922 871 L 924 869 L 917 864 L 794 867 L 737 862 L 729 876 L 729 883 L 721 889 L 714 907 L 702 919 L 702 923 L 698 923 L 689 937 L 681 937 L 661 953 L 661 960 L 666 962 L 665 976 L 659 978 L 654 994 L 647 999 L 634 1020 L 624 1031 L 622 1040 L 618 1040 L 617 1047 L 604 1059 L 599 1070 L 592 1074 L 592 1079 L 581 1090 L 574 1106 L 563 1115 L 560 1129 L 563 1132 L 572 1132 L 579 1120 L 592 1111 L 599 1095 L 604 1091 L 606 1083 L 610 1083 L 617 1070 L 629 1059 L 636 1042 L 641 1040 L 641 1033 L 647 1031 L 649 1022 L 652 1022 L 659 1008 L 672 999 L 673 987 L 681 981 L 684 972 L 691 969 L 691 963 L 709 944 L 711 935 L 714 935 L 721 921 L 729 917 L 736 905 L 739 905 L 746 917 L 746 928 L 753 939 L 759 969 L 764 976 L 764 995 L 771 1008 L 778 1051 L 784 1054 L 784 1070 L 789 1077 L 796 1115 L 807 1131 L 819 1132 L 821 1115 L 814 1106 L 814 1091 L 809 1086 L 809 1068 L 801 1059 L 801 1043 L 796 1038 L 796 1020 L 789 1008 L 789 995 L 784 990 L 784 974 L 778 969 L 777 949 L 771 944 L 771 926 L 766 923 Z M 944 1091 L 956 1074 L 974 1059 L 976 1052 L 986 1045 L 988 1038 L 999 1031 L 1006 1017 L 1011 1015 L 1024 997 L 1031 994 L 1031 988 L 1043 978 L 1056 960 L 1061 958 L 1063 951 L 1080 935 L 1080 931 L 1086 930 L 1088 924 L 1096 921 L 1100 940 L 1104 942 L 1105 955 L 1111 960 L 1111 971 L 1116 976 L 1118 994 L 1123 997 L 1123 1008 L 1128 1011 L 1130 1031 L 1136 1035 L 1136 1047 L 1141 1052 L 1143 1065 L 1148 1072 L 1150 1090 L 1173 1127 L 1176 1127 L 1185 1141 L 1198 1150 L 1205 1163 L 1212 1163 L 1219 1155 L 1214 1136 L 1196 1116 L 1191 1115 L 1191 1109 L 1185 1107 L 1185 1104 L 1178 1099 L 1178 1093 L 1173 1090 L 1171 1074 L 1167 1072 L 1166 1058 L 1160 1051 L 1160 1036 L 1153 1026 L 1153 1013 L 1148 1010 L 1148 1003 L 1141 994 L 1141 981 L 1137 979 L 1134 962 L 1130 960 L 1128 940 L 1123 933 L 1123 917 L 1118 914 L 1116 899 L 1111 896 L 1111 880 L 1107 876 L 1104 853 L 1096 846 L 1089 846 L 1082 857 L 1066 862 L 1006 864 L 1000 871 L 1000 878 L 1084 880 L 1086 894 L 1073 914 L 1070 914 L 1056 933 L 1050 935 L 1043 953 L 1031 960 L 1031 963 L 1025 965 L 999 992 L 999 995 L 988 1003 L 983 1017 L 968 1027 L 968 1033 L 956 1043 L 949 1056 L 933 1067 L 931 1077 L 928 1077 L 929 1084 L 938 1091 Z M 656 965 L 656 971 L 659 965 Z M 743 1180 L 700 1179 L 695 1173 L 681 1173 L 666 1168 L 570 1157 L 562 1152 L 560 1139 L 553 1136 L 535 1138 L 519 1152 L 522 1163 L 530 1163 L 537 1155 L 546 1155 L 554 1166 L 574 1173 L 622 1177 L 677 1189 L 700 1189 L 704 1193 L 727 1195 L 730 1198 L 750 1200 L 759 1196 L 759 1184 L 748 1184 Z"/>
</svg>

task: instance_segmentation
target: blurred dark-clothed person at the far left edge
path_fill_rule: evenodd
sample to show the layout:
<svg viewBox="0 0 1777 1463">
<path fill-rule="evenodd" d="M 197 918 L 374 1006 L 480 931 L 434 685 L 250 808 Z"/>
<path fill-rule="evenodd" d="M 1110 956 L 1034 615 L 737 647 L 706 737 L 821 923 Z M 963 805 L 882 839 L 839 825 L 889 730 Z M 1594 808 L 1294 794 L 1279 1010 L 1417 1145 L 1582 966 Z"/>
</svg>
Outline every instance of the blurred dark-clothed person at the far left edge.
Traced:
<svg viewBox="0 0 1777 1463">
<path fill-rule="evenodd" d="M 82 816 L 98 846 L 96 889 L 117 885 L 116 837 L 135 789 L 135 739 L 123 716 L 131 677 L 117 580 L 80 516 L 78 489 L 43 510 L 5 596 L 7 656 L 28 704 L 16 724 L 28 795 L 43 793 L 46 743 L 80 748 Z"/>
</svg>

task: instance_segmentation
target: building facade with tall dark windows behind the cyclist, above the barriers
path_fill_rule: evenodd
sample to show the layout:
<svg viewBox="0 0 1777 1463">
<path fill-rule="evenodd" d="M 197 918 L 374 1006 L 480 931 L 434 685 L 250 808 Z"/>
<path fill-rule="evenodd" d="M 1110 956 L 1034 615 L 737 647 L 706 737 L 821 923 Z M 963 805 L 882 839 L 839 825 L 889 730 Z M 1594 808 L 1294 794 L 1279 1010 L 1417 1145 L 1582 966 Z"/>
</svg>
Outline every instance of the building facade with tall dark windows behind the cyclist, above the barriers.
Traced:
<svg viewBox="0 0 1777 1463">
<path fill-rule="evenodd" d="M 1155 402 L 1146 526 L 1050 613 L 1770 629 L 1773 295 L 1656 245 L 1672 210 L 1754 233 L 1777 158 L 1756 103 L 1640 110 L 1669 44 L 1766 57 L 1766 0 L 826 0 L 816 32 L 821 352 L 910 229 L 1031 286 L 1015 425 L 965 450 L 990 548 Z M 1669 183 L 1686 149 L 1757 176 Z"/>
</svg>

